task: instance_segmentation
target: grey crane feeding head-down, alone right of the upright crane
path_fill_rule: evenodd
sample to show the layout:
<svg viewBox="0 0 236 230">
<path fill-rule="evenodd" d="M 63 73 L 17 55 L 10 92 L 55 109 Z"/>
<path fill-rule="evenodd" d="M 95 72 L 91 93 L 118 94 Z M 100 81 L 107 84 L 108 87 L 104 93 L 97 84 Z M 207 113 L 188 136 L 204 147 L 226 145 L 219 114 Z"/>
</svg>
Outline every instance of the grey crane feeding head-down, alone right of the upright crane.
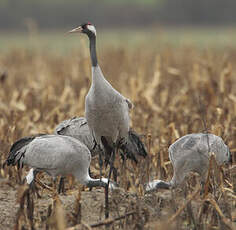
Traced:
<svg viewBox="0 0 236 230">
<path fill-rule="evenodd" d="M 179 186 L 190 172 L 200 175 L 205 182 L 209 165 L 209 152 L 214 152 L 219 165 L 232 163 L 232 155 L 221 137 L 214 134 L 193 133 L 185 135 L 170 145 L 169 158 L 174 175 L 169 182 L 154 180 L 146 185 L 150 192 L 160 188 L 170 189 Z"/>
</svg>

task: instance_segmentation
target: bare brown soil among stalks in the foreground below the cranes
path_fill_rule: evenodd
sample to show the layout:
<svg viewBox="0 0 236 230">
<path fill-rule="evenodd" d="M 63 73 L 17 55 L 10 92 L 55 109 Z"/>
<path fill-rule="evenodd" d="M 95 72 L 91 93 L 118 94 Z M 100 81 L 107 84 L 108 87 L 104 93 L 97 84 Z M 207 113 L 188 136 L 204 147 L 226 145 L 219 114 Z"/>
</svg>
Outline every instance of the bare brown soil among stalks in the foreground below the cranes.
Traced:
<svg viewBox="0 0 236 230">
<path fill-rule="evenodd" d="M 20 210 L 19 197 L 21 189 L 24 186 L 12 184 L 9 179 L 0 179 L 0 229 L 2 230 L 17 229 L 17 227 L 19 227 L 16 225 Z M 81 209 L 79 216 L 75 217 L 75 213 L 78 211 L 77 197 L 79 188 L 83 190 L 79 202 Z M 96 188 L 89 191 L 87 188 L 79 187 L 78 184 L 75 184 L 72 189 L 68 189 L 67 184 L 66 193 L 59 195 L 59 203 L 55 203 L 55 197 L 53 198 L 52 193 L 45 189 L 40 188 L 39 194 L 41 196 L 40 198 L 31 193 L 34 202 L 34 229 L 57 229 L 55 223 L 50 221 L 48 213 L 50 209 L 54 209 L 54 205 L 56 207 L 58 204 L 59 207 L 62 207 L 62 215 L 66 220 L 64 224 L 68 228 L 74 226 L 80 217 L 82 225 L 79 226 L 82 227 L 77 229 L 87 229 L 86 226 L 104 221 L 103 188 Z M 162 190 L 152 194 L 145 194 L 144 196 L 138 196 L 137 193 L 125 192 L 123 189 L 114 190 L 110 193 L 110 219 L 123 216 L 130 211 L 134 211 L 135 214 L 130 217 L 121 218 L 120 221 L 114 221 L 111 227 L 112 229 L 156 229 L 156 227 L 159 226 L 161 227 L 160 229 L 165 229 L 166 221 L 170 219 L 171 216 L 174 216 L 175 212 L 183 206 L 187 199 L 186 194 L 182 190 Z M 25 216 L 27 216 L 26 206 L 27 202 L 25 201 L 24 210 L 22 211 Z M 173 222 L 173 226 L 169 224 L 168 229 L 192 229 L 193 226 L 187 224 L 188 219 L 191 218 L 189 213 L 193 213 L 193 216 L 197 216 L 199 210 L 201 210 L 201 206 L 202 200 L 200 197 L 194 199 L 190 203 L 190 206 L 187 206 L 187 212 L 183 211 L 180 214 L 180 218 L 186 222 L 186 226 L 183 228 L 183 224 L 181 223 L 181 228 L 178 228 L 178 221 L 176 221 Z M 231 208 L 230 213 L 234 215 L 235 208 L 233 205 Z M 224 210 L 224 207 L 222 206 L 221 209 Z M 51 216 L 53 216 L 53 214 L 51 214 Z M 29 226 L 27 226 L 26 219 L 27 218 L 22 221 L 22 223 L 24 223 L 21 228 L 18 229 L 30 229 Z M 157 220 L 158 222 L 156 222 Z M 20 222 L 21 221 L 18 221 L 18 223 Z M 83 228 L 83 226 L 85 227 Z M 99 229 L 103 228 L 105 229 L 105 226 Z"/>
</svg>

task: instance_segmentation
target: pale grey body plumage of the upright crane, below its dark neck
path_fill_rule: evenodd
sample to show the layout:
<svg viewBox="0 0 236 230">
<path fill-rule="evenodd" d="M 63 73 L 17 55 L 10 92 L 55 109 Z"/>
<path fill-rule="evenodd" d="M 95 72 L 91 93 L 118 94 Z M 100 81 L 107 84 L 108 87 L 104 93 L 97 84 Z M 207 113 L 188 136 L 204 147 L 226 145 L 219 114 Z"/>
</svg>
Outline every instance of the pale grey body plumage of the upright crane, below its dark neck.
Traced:
<svg viewBox="0 0 236 230">
<path fill-rule="evenodd" d="M 92 85 L 85 100 L 85 117 L 98 145 L 101 138 L 113 147 L 127 142 L 129 104 L 104 78 L 99 66 L 92 67 Z"/>
</svg>

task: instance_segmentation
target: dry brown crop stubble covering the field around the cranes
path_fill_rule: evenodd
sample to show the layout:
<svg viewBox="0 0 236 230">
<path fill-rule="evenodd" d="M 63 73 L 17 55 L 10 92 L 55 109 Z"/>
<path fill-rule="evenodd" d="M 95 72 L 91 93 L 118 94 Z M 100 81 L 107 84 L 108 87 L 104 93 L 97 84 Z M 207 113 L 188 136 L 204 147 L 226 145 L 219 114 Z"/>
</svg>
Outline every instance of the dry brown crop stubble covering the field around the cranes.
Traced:
<svg viewBox="0 0 236 230">
<path fill-rule="evenodd" d="M 91 229 L 97 224 L 101 229 L 234 229 L 235 170 L 225 169 L 222 176 L 214 159 L 210 185 L 203 194 L 195 174 L 174 191 L 144 194 L 143 184 L 172 177 L 168 146 L 182 135 L 204 131 L 204 107 L 208 130 L 223 137 L 235 164 L 236 50 L 107 47 L 99 54 L 107 79 L 135 104 L 132 127 L 143 134 L 149 157 L 140 159 L 137 166 L 123 164 L 117 157 L 122 189 L 110 194 L 107 226 L 102 189 L 88 191 L 70 180 L 66 195 L 52 196 L 40 188 L 39 198 L 22 184 L 26 169 L 0 166 L 0 228 L 72 230 Z M 52 133 L 60 121 L 84 114 L 90 85 L 85 44 L 70 56 L 9 51 L 0 55 L 0 72 L 1 165 L 17 139 Z M 92 173 L 99 175 L 96 159 Z M 45 175 L 40 176 L 50 185 Z"/>
</svg>

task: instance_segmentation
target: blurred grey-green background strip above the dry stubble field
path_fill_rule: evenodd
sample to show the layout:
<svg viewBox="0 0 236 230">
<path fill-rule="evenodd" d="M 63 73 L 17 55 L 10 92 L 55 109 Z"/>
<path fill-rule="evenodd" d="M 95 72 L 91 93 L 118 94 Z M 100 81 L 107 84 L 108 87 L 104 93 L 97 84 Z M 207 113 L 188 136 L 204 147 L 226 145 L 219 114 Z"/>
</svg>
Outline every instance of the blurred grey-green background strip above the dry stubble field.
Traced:
<svg viewBox="0 0 236 230">
<path fill-rule="evenodd" d="M 99 29 L 101 42 L 114 46 L 130 36 L 132 44 L 234 46 L 235 12 L 235 0 L 1 0 L 0 50 L 40 45 L 65 51 L 74 42 L 63 44 L 64 33 L 86 21 Z"/>
</svg>

